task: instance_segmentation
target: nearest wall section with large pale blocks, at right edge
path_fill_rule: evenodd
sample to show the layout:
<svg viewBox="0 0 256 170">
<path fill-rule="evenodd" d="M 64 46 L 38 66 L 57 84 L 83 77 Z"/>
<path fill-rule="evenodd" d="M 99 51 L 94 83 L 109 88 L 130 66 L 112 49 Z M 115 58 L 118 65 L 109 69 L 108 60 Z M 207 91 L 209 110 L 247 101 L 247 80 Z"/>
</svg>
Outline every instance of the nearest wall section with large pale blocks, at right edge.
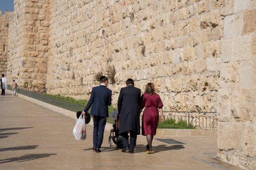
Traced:
<svg viewBox="0 0 256 170">
<path fill-rule="evenodd" d="M 256 166 L 256 1 L 234 0 L 224 18 L 218 90 L 218 157 Z"/>
</svg>

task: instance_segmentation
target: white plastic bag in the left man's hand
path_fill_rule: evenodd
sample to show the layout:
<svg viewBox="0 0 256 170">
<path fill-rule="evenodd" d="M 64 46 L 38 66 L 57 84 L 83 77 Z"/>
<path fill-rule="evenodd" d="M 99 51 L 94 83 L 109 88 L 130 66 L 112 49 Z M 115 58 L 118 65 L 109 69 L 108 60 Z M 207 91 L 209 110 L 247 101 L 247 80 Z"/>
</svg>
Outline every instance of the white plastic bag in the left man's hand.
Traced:
<svg viewBox="0 0 256 170">
<path fill-rule="evenodd" d="M 85 128 L 85 120 L 84 116 L 82 114 L 80 117 L 76 120 L 76 125 L 73 129 L 73 134 L 76 140 L 85 140 L 86 139 L 86 128 Z"/>
</svg>

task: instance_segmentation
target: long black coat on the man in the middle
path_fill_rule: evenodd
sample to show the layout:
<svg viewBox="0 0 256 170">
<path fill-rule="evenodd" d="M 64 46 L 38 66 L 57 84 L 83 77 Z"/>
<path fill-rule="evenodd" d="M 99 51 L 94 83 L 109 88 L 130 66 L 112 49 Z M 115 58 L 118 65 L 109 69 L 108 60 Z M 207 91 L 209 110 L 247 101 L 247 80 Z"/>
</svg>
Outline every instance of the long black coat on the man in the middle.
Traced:
<svg viewBox="0 0 256 170">
<path fill-rule="evenodd" d="M 118 97 L 118 112 L 120 113 L 119 134 L 132 130 L 140 134 L 139 104 L 141 100 L 141 89 L 129 85 L 120 90 Z"/>
</svg>

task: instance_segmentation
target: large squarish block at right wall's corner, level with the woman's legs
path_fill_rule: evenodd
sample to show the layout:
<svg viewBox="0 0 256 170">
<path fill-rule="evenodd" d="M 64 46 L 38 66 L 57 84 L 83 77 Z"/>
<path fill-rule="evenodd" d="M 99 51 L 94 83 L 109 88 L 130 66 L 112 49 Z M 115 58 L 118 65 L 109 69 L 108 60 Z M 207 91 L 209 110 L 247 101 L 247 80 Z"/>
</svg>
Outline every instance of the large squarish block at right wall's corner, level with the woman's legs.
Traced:
<svg viewBox="0 0 256 170">
<path fill-rule="evenodd" d="M 242 149 L 243 123 L 218 122 L 218 149 L 232 150 Z M 232 140 L 230 140 L 232 139 Z"/>
</svg>

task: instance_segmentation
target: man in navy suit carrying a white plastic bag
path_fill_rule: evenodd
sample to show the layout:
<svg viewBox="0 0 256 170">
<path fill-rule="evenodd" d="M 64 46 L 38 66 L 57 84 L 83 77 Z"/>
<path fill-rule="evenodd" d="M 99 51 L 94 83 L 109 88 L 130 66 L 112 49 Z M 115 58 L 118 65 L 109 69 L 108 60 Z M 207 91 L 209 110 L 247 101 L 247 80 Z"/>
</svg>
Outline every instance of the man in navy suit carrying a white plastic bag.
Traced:
<svg viewBox="0 0 256 170">
<path fill-rule="evenodd" d="M 90 115 L 93 116 L 93 150 L 101 152 L 100 147 L 103 141 L 103 134 L 108 117 L 108 106 L 111 105 L 112 91 L 107 88 L 108 77 L 100 77 L 100 85 L 92 88 L 92 94 L 82 115 L 92 106 Z M 92 105 L 93 103 L 93 105 Z"/>
</svg>

